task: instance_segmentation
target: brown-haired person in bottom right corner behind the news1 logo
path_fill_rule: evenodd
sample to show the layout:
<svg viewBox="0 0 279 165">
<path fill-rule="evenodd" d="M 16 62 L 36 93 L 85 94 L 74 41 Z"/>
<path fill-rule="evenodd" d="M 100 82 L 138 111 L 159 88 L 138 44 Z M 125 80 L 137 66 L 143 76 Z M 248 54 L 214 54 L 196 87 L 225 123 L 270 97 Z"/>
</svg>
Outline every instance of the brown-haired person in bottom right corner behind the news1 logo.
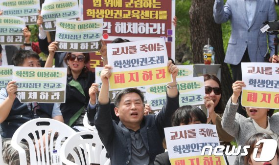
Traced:
<svg viewBox="0 0 279 165">
<path fill-rule="evenodd" d="M 263 144 L 261 143 L 256 146 L 256 143 L 262 139 L 273 139 L 273 138 L 267 133 L 256 133 L 255 135 L 252 135 L 247 140 L 245 145 L 249 145 L 250 148 L 248 148 L 247 156 L 244 157 L 244 165 L 263 165 L 264 164 L 264 162 L 256 162 L 253 159 L 253 153 L 254 153 L 255 148 L 257 148 L 256 158 L 259 158 L 261 155 Z M 279 149 L 277 148 L 274 158 L 272 160 L 270 160 L 269 162 L 266 162 L 264 165 L 278 165 L 278 162 L 279 162 Z"/>
</svg>

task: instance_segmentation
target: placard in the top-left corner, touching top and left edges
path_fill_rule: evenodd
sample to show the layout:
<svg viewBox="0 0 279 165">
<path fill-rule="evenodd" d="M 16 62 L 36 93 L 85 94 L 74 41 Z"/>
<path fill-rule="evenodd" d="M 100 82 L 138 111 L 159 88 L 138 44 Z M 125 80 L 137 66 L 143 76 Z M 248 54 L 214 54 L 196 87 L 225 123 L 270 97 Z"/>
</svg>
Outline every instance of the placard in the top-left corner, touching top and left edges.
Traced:
<svg viewBox="0 0 279 165">
<path fill-rule="evenodd" d="M 2 15 L 21 17 L 26 25 L 37 24 L 40 0 L 0 0 Z"/>
</svg>

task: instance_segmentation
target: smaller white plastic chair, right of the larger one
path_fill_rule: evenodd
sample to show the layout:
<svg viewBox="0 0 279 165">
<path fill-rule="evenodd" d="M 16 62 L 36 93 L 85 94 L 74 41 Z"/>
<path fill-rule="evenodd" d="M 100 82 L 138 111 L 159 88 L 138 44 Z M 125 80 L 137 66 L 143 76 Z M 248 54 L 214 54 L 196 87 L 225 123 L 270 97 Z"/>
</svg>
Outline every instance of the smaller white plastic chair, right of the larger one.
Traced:
<svg viewBox="0 0 279 165">
<path fill-rule="evenodd" d="M 86 138 L 82 135 L 88 135 Z M 106 149 L 102 144 L 98 133 L 82 131 L 70 136 L 62 145 L 60 151 L 61 161 L 66 165 L 110 165 L 110 159 L 106 158 Z M 67 157 L 72 155 L 74 163 Z"/>
</svg>

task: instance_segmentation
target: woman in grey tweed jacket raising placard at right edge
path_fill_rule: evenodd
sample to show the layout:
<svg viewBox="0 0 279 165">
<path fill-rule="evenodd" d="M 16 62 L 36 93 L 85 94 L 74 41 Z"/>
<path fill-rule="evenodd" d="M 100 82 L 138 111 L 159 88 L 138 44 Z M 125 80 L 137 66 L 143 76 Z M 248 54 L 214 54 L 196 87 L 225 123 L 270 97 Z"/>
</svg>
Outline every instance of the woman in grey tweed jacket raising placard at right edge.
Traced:
<svg viewBox="0 0 279 165">
<path fill-rule="evenodd" d="M 242 81 L 232 84 L 232 97 L 229 99 L 222 121 L 223 129 L 235 137 L 236 143 L 241 146 L 256 133 L 267 133 L 273 139 L 279 141 L 279 113 L 273 115 L 274 109 L 245 107 L 249 118 L 237 113 L 238 97 L 242 87 L 246 86 Z M 244 152 L 241 148 L 241 153 Z M 238 156 L 234 165 L 244 165 L 244 157 Z"/>
</svg>

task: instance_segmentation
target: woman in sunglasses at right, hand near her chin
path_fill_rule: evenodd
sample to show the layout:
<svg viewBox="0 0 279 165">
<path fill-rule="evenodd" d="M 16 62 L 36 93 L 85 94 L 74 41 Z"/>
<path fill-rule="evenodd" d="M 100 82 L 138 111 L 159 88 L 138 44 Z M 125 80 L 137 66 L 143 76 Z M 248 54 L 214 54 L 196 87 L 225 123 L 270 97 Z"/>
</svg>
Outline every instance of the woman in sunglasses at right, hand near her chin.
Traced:
<svg viewBox="0 0 279 165">
<path fill-rule="evenodd" d="M 222 128 L 222 116 L 224 113 L 224 105 L 222 103 L 221 82 L 214 75 L 205 74 L 205 105 L 209 109 L 208 124 L 215 124 L 219 141 L 221 145 L 231 145 L 230 142 L 234 139 Z"/>
</svg>

